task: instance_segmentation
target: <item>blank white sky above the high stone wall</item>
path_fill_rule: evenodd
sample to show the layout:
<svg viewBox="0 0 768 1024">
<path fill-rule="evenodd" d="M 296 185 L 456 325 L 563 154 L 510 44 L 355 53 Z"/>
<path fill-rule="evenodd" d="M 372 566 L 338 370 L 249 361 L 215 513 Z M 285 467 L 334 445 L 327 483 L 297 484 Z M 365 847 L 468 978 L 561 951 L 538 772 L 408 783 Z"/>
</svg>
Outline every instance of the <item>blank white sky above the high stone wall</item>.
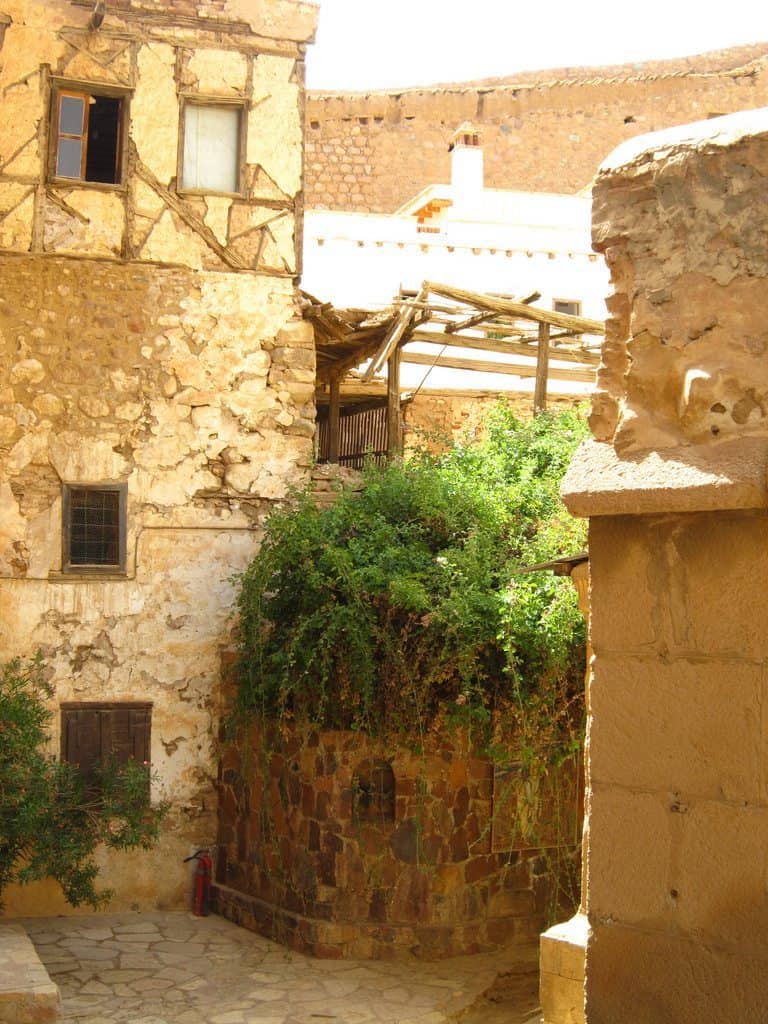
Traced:
<svg viewBox="0 0 768 1024">
<path fill-rule="evenodd" d="M 310 89 L 381 89 L 768 42 L 765 0 L 319 0 Z"/>
</svg>

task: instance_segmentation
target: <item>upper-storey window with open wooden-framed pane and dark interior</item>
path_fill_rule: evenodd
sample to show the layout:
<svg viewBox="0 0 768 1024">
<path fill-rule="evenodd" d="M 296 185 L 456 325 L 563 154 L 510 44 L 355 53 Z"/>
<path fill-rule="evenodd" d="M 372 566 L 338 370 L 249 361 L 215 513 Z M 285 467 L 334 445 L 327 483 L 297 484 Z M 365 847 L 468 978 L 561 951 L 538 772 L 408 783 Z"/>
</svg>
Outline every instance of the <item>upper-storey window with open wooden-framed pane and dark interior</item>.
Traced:
<svg viewBox="0 0 768 1024">
<path fill-rule="evenodd" d="M 120 184 L 127 97 L 79 88 L 53 93 L 51 175 Z"/>
</svg>

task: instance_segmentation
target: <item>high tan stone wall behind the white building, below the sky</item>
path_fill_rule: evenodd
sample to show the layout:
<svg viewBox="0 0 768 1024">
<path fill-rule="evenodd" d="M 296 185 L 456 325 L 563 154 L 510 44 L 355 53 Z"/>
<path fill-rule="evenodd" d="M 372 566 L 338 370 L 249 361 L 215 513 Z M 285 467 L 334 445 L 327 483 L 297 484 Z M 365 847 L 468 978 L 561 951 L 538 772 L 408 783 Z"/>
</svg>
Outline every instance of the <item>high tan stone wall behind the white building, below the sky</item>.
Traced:
<svg viewBox="0 0 768 1024">
<path fill-rule="evenodd" d="M 451 180 L 449 144 L 482 128 L 485 183 L 571 193 L 641 132 L 768 103 L 768 44 L 686 60 L 567 68 L 482 83 L 374 93 L 311 93 L 307 206 L 393 213 Z"/>
</svg>

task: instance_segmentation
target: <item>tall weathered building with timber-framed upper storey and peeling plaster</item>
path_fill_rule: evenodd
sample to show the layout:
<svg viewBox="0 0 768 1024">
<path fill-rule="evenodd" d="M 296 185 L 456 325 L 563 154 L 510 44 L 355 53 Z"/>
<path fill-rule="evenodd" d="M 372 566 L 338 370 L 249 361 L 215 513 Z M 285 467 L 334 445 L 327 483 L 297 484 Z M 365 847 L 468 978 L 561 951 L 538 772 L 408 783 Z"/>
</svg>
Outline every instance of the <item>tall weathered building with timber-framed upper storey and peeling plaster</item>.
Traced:
<svg viewBox="0 0 768 1024">
<path fill-rule="evenodd" d="M 296 302 L 302 0 L 0 0 L 0 656 L 41 649 L 56 753 L 151 760 L 179 905 L 215 835 L 231 577 L 312 457 Z M 55 912 L 49 886 L 8 912 Z"/>
</svg>

